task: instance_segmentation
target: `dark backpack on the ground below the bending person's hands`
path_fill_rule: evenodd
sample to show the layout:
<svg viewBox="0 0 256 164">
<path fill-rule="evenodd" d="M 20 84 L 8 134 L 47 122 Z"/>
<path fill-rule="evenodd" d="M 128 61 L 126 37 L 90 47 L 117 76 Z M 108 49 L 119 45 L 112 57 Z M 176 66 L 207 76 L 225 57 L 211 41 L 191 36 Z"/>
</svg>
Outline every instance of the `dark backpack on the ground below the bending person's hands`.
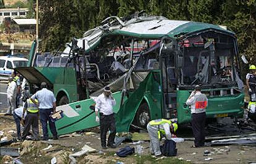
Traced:
<svg viewBox="0 0 256 164">
<path fill-rule="evenodd" d="M 166 157 L 173 157 L 177 155 L 176 142 L 173 140 L 164 141 L 163 146 L 161 146 L 161 152 Z"/>
</svg>

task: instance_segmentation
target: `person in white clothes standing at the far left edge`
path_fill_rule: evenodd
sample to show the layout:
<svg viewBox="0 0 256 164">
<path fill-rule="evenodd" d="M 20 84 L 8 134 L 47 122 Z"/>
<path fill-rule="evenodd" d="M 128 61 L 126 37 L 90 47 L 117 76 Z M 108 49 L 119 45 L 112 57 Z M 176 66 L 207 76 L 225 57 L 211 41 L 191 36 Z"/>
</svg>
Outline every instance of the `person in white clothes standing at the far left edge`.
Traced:
<svg viewBox="0 0 256 164">
<path fill-rule="evenodd" d="M 9 78 L 9 85 L 7 88 L 7 104 L 8 110 L 6 115 L 11 115 L 14 109 L 16 108 L 16 96 L 17 96 L 17 84 L 13 79 Z"/>
</svg>

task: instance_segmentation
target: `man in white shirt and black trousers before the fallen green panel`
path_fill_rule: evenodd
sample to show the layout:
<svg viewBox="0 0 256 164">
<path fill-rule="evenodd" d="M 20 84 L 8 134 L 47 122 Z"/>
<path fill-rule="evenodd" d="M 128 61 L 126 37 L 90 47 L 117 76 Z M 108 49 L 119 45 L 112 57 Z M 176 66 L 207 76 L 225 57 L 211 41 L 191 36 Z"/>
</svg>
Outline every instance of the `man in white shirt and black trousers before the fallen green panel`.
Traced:
<svg viewBox="0 0 256 164">
<path fill-rule="evenodd" d="M 106 86 L 104 91 L 96 99 L 95 114 L 96 122 L 100 121 L 100 141 L 102 149 L 106 149 L 106 134 L 110 131 L 108 137 L 108 147 L 115 148 L 114 137 L 116 136 L 116 120 L 114 118 L 113 107 L 116 105 L 110 88 Z M 98 112 L 100 111 L 100 118 Z"/>
</svg>

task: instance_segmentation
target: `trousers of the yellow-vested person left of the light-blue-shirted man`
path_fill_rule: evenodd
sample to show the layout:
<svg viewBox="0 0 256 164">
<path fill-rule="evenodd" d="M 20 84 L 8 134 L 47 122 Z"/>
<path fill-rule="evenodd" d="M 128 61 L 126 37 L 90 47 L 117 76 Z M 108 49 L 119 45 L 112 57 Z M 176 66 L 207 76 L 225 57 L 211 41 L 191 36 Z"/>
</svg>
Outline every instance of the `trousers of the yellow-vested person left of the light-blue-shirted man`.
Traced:
<svg viewBox="0 0 256 164">
<path fill-rule="evenodd" d="M 39 139 L 39 128 L 38 128 L 38 113 L 27 112 L 25 118 L 25 126 L 22 133 L 22 139 L 26 139 L 29 134 L 30 126 L 32 126 L 33 139 Z"/>
</svg>

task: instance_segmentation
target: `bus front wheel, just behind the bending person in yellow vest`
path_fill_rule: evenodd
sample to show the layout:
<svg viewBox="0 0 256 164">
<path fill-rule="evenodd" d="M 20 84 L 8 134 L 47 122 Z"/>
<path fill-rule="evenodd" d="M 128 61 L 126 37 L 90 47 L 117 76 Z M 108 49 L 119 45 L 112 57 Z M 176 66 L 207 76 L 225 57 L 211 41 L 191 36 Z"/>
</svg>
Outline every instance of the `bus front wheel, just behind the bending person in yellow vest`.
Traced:
<svg viewBox="0 0 256 164">
<path fill-rule="evenodd" d="M 143 103 L 140 105 L 139 109 L 137 110 L 135 123 L 137 126 L 141 128 L 147 128 L 147 124 L 150 121 L 150 111 L 148 108 L 147 103 Z"/>
</svg>

